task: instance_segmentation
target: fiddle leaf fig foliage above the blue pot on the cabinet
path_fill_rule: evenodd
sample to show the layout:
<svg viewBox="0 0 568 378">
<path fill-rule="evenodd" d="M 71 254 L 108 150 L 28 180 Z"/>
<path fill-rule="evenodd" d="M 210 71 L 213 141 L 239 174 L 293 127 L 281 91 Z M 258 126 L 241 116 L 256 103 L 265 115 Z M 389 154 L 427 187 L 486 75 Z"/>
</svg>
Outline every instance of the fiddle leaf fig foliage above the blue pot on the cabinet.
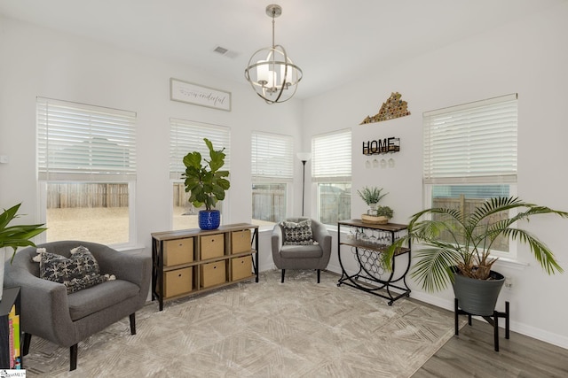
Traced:
<svg viewBox="0 0 568 378">
<path fill-rule="evenodd" d="M 201 163 L 201 153 L 198 151 L 189 152 L 184 157 L 185 165 L 185 192 L 190 193 L 189 202 L 195 207 L 205 208 L 210 211 L 217 204 L 217 201 L 225 199 L 225 190 L 231 187 L 231 183 L 226 177 L 229 171 L 222 171 L 225 166 L 225 148 L 214 150 L 213 143 L 207 138 L 203 138 L 209 148 L 209 160 L 203 158 Z"/>
</svg>

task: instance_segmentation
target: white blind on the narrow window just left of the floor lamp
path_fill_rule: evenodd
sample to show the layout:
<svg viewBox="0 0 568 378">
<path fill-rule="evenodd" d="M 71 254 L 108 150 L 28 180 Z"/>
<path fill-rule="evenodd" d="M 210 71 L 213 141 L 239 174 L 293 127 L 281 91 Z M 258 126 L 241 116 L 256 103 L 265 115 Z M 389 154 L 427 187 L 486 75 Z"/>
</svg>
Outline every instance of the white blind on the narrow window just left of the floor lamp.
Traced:
<svg viewBox="0 0 568 378">
<path fill-rule="evenodd" d="M 294 140 L 289 135 L 253 131 L 251 174 L 253 181 L 292 181 Z"/>
</svg>

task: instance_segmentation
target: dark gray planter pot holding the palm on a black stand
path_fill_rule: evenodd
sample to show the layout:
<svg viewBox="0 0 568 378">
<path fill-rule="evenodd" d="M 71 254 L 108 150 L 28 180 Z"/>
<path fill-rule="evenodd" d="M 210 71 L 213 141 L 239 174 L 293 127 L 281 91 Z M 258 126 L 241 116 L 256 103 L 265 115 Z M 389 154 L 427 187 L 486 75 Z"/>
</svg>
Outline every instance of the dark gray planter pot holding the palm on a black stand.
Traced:
<svg viewBox="0 0 568 378">
<path fill-rule="evenodd" d="M 461 274 L 454 274 L 454 295 L 458 298 L 458 306 L 461 310 L 472 315 L 493 316 L 505 277 L 493 270 L 489 277 L 490 280 L 476 280 Z"/>
</svg>

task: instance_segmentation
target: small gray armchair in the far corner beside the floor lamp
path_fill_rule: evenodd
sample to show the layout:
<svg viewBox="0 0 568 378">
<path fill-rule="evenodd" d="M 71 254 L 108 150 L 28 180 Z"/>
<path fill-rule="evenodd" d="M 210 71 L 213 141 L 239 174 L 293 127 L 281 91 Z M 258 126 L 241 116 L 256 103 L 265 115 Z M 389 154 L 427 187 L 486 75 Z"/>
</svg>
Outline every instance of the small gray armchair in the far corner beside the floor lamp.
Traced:
<svg viewBox="0 0 568 378">
<path fill-rule="evenodd" d="M 301 225 L 305 220 L 309 220 L 309 218 L 288 218 L 284 220 L 284 223 L 292 222 Z M 272 230 L 272 259 L 274 265 L 282 270 L 281 282 L 284 282 L 286 269 L 315 269 L 318 271 L 319 283 L 321 269 L 327 268 L 327 263 L 329 263 L 331 257 L 331 235 L 319 221 L 311 220 L 311 222 L 311 233 L 308 232 L 308 235 L 301 226 L 296 228 L 292 225 L 291 228 L 286 229 L 282 226 L 282 222 L 274 226 Z M 317 243 L 302 243 L 303 240 L 309 240 L 309 238 Z"/>
</svg>

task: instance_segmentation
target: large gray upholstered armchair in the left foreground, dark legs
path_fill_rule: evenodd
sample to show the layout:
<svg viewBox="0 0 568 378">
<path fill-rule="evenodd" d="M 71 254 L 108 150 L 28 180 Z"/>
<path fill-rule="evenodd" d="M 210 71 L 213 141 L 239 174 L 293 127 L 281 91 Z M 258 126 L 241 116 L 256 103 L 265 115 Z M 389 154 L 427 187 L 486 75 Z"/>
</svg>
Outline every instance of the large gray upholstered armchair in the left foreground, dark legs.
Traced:
<svg viewBox="0 0 568 378">
<path fill-rule="evenodd" d="M 135 312 L 146 303 L 152 268 L 149 257 L 98 243 L 65 241 L 37 247 L 69 258 L 70 250 L 80 245 L 91 251 L 101 274 L 114 274 L 116 279 L 67 294 L 63 283 L 39 278 L 39 263 L 32 261 L 37 255 L 34 247 L 18 251 L 12 265 L 6 264 L 4 276 L 4 286 L 21 290 L 23 354 L 28 354 L 32 335 L 42 337 L 70 348 L 70 370 L 77 366 L 77 344 L 86 337 L 125 316 L 130 316 L 130 333 L 136 334 Z"/>
</svg>

